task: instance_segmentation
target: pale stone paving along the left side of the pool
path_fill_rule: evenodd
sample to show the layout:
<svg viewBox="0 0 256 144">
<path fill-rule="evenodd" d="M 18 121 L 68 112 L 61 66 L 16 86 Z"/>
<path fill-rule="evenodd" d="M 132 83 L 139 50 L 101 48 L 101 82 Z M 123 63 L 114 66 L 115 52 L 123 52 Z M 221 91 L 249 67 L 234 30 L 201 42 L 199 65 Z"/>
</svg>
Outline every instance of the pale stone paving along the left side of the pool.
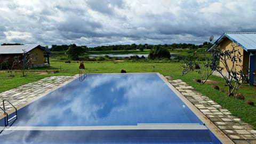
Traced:
<svg viewBox="0 0 256 144">
<path fill-rule="evenodd" d="M 71 81 L 76 76 L 51 76 L 40 79 L 39 81 L 28 83 L 19 86 L 15 89 L 0 93 L 0 107 L 3 108 L 2 101 L 4 99 L 10 100 L 12 104 L 20 109 L 25 106 L 28 102 L 32 102 L 37 98 L 42 97 L 45 93 L 49 93 L 54 89 L 57 89 L 61 85 L 68 81 Z M 14 111 L 11 105 L 6 105 L 7 113 Z M 0 119 L 4 117 L 4 112 L 0 110 Z"/>
</svg>

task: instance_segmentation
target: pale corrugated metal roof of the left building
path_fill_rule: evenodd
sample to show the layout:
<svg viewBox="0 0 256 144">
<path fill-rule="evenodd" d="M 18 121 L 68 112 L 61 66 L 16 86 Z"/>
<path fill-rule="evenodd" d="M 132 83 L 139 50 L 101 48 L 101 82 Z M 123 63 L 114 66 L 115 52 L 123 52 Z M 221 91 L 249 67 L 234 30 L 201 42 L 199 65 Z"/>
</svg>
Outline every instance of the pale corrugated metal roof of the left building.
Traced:
<svg viewBox="0 0 256 144">
<path fill-rule="evenodd" d="M 0 54 L 20 54 L 24 51 L 29 52 L 37 46 L 40 45 L 0 45 Z"/>
</svg>

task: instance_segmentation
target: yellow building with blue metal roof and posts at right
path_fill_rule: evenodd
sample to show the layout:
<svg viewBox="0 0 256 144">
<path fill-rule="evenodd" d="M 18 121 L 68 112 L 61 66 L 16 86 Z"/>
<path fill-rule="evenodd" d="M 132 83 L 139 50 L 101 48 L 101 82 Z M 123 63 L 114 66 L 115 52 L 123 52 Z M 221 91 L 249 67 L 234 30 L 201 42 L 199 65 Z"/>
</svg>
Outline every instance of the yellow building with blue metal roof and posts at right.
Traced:
<svg viewBox="0 0 256 144">
<path fill-rule="evenodd" d="M 250 85 L 256 84 L 256 33 L 224 33 L 207 51 L 211 51 L 215 47 L 222 51 L 232 50 L 235 47 L 235 50 L 238 50 L 242 55 L 242 61 L 239 64 L 243 66 L 242 68 L 236 67 L 236 71 L 242 69 L 243 73 L 247 74 L 249 69 Z M 227 61 L 227 63 L 232 66 L 231 61 Z M 222 63 L 220 63 L 220 67 L 223 67 Z M 223 69 L 223 72 L 225 73 L 227 70 Z"/>
</svg>

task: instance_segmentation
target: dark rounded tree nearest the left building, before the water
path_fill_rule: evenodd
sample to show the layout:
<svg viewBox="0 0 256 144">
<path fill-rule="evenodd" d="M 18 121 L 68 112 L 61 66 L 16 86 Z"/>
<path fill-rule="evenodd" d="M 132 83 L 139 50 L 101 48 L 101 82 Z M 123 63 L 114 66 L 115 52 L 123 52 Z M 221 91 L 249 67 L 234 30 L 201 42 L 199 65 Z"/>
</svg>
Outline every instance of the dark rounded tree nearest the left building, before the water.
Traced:
<svg viewBox="0 0 256 144">
<path fill-rule="evenodd" d="M 66 54 L 71 60 L 78 60 L 80 55 L 83 55 L 85 48 L 82 46 L 76 46 L 76 44 L 70 44 Z"/>
</svg>

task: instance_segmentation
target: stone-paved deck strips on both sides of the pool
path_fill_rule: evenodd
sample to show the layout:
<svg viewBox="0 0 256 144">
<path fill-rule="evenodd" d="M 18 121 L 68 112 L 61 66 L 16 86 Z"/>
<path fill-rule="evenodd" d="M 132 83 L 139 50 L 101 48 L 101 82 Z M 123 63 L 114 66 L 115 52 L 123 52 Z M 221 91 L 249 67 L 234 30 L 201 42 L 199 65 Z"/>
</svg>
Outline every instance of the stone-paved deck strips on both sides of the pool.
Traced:
<svg viewBox="0 0 256 144">
<path fill-rule="evenodd" d="M 75 77 L 77 76 L 46 77 L 39 81 L 2 92 L 0 93 L 0 106 L 3 107 L 3 99 L 8 99 L 19 109 L 54 89 L 58 89 L 58 87 L 68 83 Z M 222 108 L 218 103 L 205 95 L 196 92 L 193 87 L 182 82 L 180 79 L 172 80 L 169 76 L 165 78 L 234 143 L 256 143 L 256 130 L 253 130 L 250 124 L 233 116 L 230 111 Z M 11 113 L 14 109 L 9 107 L 7 111 Z M 3 111 L 0 111 L 1 118 L 3 118 Z"/>
</svg>

